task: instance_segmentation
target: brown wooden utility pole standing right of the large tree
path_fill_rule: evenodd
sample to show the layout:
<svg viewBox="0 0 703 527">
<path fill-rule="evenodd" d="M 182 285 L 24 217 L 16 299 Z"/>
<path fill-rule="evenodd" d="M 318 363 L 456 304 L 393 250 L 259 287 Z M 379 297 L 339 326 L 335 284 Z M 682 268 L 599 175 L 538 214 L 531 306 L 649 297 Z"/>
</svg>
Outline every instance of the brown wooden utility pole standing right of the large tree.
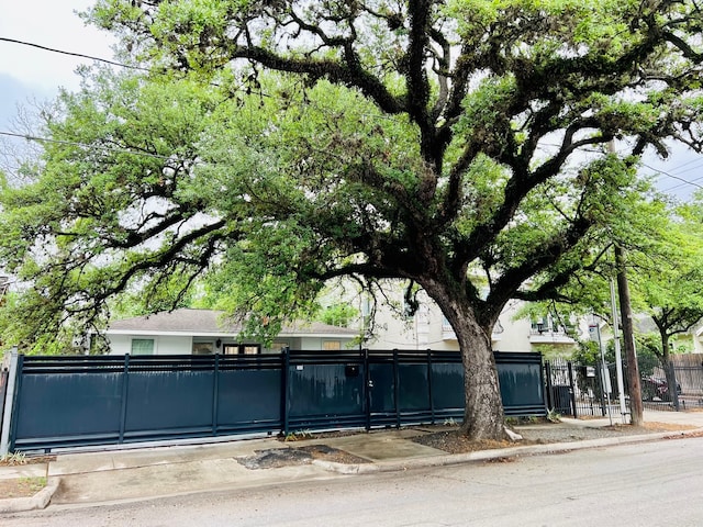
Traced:
<svg viewBox="0 0 703 527">
<path fill-rule="evenodd" d="M 615 268 L 617 269 L 620 317 L 623 325 L 623 347 L 625 348 L 625 357 L 627 360 L 631 423 L 633 426 L 641 426 L 644 418 L 639 367 L 637 366 L 637 352 L 635 351 L 633 313 L 629 306 L 629 287 L 627 285 L 627 274 L 625 272 L 625 256 L 620 245 L 615 245 Z"/>
</svg>

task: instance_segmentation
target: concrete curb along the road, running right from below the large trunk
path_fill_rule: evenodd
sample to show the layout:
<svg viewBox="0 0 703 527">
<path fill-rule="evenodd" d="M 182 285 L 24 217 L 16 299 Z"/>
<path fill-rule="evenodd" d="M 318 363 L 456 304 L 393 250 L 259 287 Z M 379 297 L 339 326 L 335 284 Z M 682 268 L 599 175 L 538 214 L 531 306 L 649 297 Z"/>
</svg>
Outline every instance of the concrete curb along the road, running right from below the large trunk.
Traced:
<svg viewBox="0 0 703 527">
<path fill-rule="evenodd" d="M 466 453 L 447 453 L 428 458 L 404 459 L 399 461 L 379 461 L 373 463 L 345 464 L 332 461 L 314 460 L 313 464 L 330 472 L 339 474 L 370 474 L 376 472 L 398 472 L 409 469 L 445 467 L 449 464 L 461 464 L 476 461 L 487 461 L 501 458 L 514 458 L 518 456 L 538 456 L 546 453 L 569 452 L 572 450 L 584 450 L 588 448 L 610 447 L 617 445 L 628 445 L 633 442 L 646 442 L 679 436 L 688 436 L 703 433 L 703 428 L 681 431 L 659 431 L 654 434 L 641 434 L 636 436 L 607 437 L 601 439 L 584 439 L 582 441 L 549 442 L 544 445 L 525 445 L 518 447 L 499 448 L 492 450 L 477 450 Z"/>
</svg>

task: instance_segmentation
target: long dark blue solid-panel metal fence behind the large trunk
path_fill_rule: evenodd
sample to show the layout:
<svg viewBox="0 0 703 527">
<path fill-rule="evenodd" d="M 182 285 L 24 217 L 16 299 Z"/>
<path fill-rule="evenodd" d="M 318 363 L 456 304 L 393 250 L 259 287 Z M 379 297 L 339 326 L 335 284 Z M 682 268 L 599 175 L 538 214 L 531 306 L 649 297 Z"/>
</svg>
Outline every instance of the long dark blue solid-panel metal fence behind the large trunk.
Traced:
<svg viewBox="0 0 703 527">
<path fill-rule="evenodd" d="M 495 352 L 506 415 L 545 415 L 539 354 Z M 461 421 L 460 355 L 25 357 L 10 450 Z"/>
</svg>

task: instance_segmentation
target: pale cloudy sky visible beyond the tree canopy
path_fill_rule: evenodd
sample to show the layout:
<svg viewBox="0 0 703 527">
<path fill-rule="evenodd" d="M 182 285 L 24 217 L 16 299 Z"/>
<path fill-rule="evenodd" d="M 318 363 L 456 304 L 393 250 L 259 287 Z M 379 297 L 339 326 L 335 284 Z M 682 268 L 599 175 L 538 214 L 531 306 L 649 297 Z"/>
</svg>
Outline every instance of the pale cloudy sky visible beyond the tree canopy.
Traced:
<svg viewBox="0 0 703 527">
<path fill-rule="evenodd" d="M 1 0 L 0 37 L 111 59 L 112 35 L 86 26 L 76 14 L 92 3 L 93 0 Z M 79 77 L 75 71 L 81 64 L 90 60 L 0 41 L 0 132 L 16 131 L 13 119 L 18 105 L 30 108 L 32 101 L 51 100 L 59 87 L 77 89 Z M 7 144 L 10 139 L 2 141 Z M 703 188 L 703 155 L 677 147 L 667 161 L 647 155 L 644 162 L 643 175 L 660 171 L 658 188 L 678 200 L 685 201 L 694 190 Z"/>
</svg>

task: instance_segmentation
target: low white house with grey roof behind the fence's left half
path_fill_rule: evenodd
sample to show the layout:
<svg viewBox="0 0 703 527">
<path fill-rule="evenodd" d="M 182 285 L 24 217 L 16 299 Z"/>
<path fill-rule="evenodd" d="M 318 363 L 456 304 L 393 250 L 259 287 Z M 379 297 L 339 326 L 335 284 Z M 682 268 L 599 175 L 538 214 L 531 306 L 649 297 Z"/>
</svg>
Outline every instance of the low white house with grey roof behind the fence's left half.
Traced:
<svg viewBox="0 0 703 527">
<path fill-rule="evenodd" d="M 105 330 L 110 355 L 208 355 L 278 352 L 283 347 L 338 350 L 355 346 L 358 332 L 321 323 L 283 327 L 270 347 L 239 339 L 241 326 L 224 313 L 181 309 L 149 316 L 114 321 Z"/>
</svg>

